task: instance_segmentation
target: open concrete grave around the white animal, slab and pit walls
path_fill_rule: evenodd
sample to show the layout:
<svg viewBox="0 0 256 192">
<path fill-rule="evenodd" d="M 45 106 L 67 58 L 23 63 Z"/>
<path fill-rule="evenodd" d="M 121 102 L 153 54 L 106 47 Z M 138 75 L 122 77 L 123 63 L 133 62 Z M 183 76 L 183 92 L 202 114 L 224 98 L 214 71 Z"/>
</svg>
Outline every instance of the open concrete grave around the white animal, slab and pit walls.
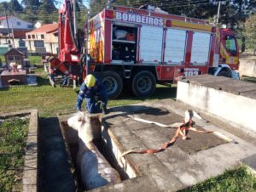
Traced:
<svg viewBox="0 0 256 192">
<path fill-rule="evenodd" d="M 172 99 L 110 109 L 111 113 L 102 118 L 102 140 L 99 145 L 110 164 L 121 172 L 123 180 L 119 184 L 106 185 L 93 191 L 177 191 L 218 176 L 254 154 L 256 144 L 227 132 L 224 123 L 215 124 L 218 120 L 207 122 L 195 118 L 199 129 L 218 132 L 224 138 L 230 138 L 230 141 L 212 133 L 191 132 L 189 140 L 178 138 L 175 144 L 159 153 L 129 154 L 119 159 L 126 150 L 158 149 L 172 138 L 175 131 L 134 121 L 129 116 L 167 124 L 181 121 L 184 111 L 188 109 L 188 106 Z M 70 161 L 74 161 L 77 133 L 67 127 L 68 117 L 60 116 L 59 121 Z M 79 179 L 76 181 L 79 184 Z"/>
</svg>

